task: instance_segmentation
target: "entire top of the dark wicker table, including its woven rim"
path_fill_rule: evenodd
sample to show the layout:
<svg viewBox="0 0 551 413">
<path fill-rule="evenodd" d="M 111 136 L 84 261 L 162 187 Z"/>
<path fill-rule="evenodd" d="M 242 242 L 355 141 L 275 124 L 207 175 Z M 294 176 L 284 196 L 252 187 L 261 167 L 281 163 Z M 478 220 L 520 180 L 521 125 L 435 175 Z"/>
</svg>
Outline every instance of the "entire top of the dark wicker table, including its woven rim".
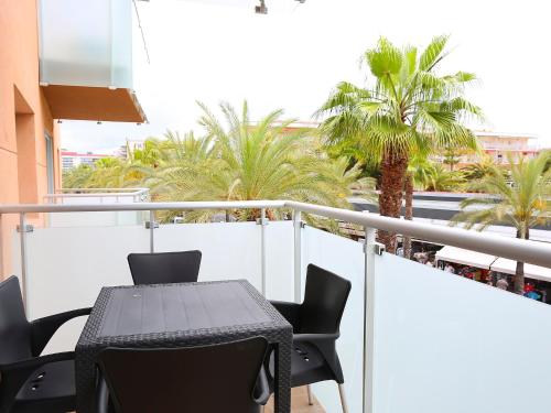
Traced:
<svg viewBox="0 0 551 413">
<path fill-rule="evenodd" d="M 246 280 L 114 286 L 101 290 L 78 345 L 270 325 L 285 327 L 288 323 Z"/>
</svg>

